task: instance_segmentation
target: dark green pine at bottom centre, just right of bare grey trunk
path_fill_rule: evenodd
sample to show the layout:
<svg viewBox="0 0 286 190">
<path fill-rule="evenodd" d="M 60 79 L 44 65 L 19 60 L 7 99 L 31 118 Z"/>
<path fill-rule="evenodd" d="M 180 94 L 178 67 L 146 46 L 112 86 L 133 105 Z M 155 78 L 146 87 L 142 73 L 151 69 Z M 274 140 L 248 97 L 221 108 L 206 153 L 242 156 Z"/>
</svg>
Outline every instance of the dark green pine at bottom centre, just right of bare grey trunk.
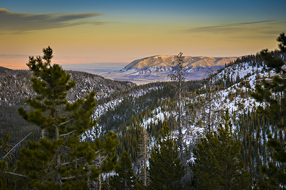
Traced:
<svg viewBox="0 0 286 190">
<path fill-rule="evenodd" d="M 154 146 L 149 159 L 151 190 L 179 190 L 184 167 L 178 159 L 178 146 L 171 137 L 168 126 L 163 126 L 162 134 Z"/>
</svg>

